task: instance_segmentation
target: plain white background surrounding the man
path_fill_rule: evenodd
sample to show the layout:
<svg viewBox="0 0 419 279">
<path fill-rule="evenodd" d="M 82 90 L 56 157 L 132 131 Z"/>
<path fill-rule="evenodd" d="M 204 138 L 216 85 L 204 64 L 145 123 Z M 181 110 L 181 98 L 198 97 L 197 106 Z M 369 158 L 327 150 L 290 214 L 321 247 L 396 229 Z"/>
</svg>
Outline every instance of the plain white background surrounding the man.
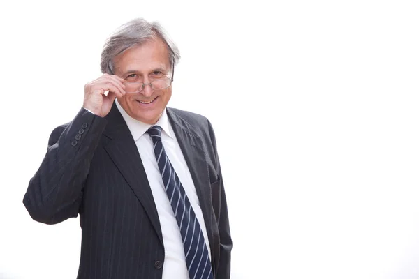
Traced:
<svg viewBox="0 0 419 279">
<path fill-rule="evenodd" d="M 22 199 L 55 126 L 144 17 L 179 46 L 169 105 L 214 126 L 232 279 L 419 278 L 417 1 L 2 1 L 0 278 L 75 278 L 78 219 Z"/>
</svg>

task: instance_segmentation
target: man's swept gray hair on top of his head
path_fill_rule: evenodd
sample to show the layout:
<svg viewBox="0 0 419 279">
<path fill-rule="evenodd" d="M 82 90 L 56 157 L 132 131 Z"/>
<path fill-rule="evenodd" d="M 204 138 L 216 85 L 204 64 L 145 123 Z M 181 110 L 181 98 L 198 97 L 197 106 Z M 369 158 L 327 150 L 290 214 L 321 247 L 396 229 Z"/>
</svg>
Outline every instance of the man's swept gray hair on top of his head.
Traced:
<svg viewBox="0 0 419 279">
<path fill-rule="evenodd" d="M 113 75 L 113 59 L 115 56 L 128 50 L 128 48 L 142 45 L 156 38 L 161 38 L 167 45 L 170 68 L 174 67 L 179 62 L 180 52 L 163 27 L 161 27 L 159 22 L 147 22 L 142 18 L 136 18 L 123 24 L 105 41 L 101 54 L 102 73 Z"/>
</svg>

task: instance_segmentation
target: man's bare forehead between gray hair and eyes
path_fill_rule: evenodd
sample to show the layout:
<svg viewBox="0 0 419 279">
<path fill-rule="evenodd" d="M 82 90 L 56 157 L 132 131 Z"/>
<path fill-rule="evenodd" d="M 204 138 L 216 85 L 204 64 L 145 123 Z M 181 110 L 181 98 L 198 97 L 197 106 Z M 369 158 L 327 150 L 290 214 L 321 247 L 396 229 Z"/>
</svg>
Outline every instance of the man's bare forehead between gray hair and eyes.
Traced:
<svg viewBox="0 0 419 279">
<path fill-rule="evenodd" d="M 147 40 L 142 45 L 136 45 L 122 54 L 115 56 L 115 72 L 127 70 L 149 71 L 155 68 L 169 70 L 168 47 L 159 38 Z"/>
</svg>

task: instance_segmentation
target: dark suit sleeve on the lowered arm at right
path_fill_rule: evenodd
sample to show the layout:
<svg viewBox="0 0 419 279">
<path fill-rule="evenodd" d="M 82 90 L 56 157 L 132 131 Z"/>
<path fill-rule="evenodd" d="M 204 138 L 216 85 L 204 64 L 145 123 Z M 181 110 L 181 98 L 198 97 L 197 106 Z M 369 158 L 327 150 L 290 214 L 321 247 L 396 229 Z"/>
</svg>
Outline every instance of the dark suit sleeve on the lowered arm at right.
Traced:
<svg viewBox="0 0 419 279">
<path fill-rule="evenodd" d="M 221 178 L 221 194 L 220 194 L 220 209 L 219 209 L 219 236 L 220 236 L 220 259 L 219 267 L 216 273 L 216 279 L 230 279 L 230 262 L 231 262 L 231 249 L 233 248 L 233 242 L 230 234 L 230 223 L 228 221 L 228 209 L 226 201 L 226 192 L 224 190 L 223 175 L 221 173 L 221 166 L 219 161 L 218 152 L 216 150 L 216 140 L 214 130 L 210 121 L 208 121 L 210 127 L 210 137 L 212 146 L 214 149 L 216 170 Z"/>
</svg>

